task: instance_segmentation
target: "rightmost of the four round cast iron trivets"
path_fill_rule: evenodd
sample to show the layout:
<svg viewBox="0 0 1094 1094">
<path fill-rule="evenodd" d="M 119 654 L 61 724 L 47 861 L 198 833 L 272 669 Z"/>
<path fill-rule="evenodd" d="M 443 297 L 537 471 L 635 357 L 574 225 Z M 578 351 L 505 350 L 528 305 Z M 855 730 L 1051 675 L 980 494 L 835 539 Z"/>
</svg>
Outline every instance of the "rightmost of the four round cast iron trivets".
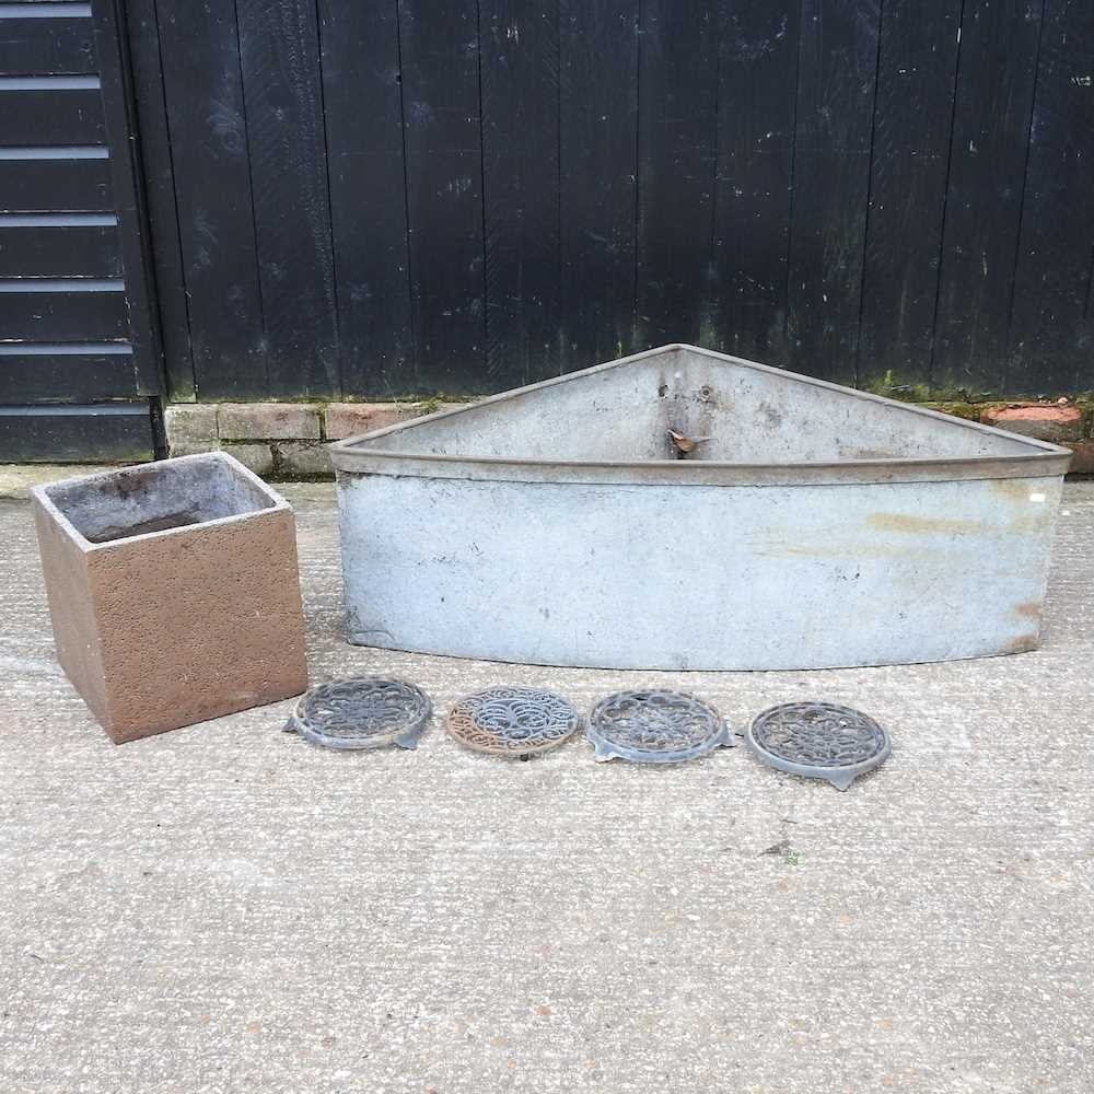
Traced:
<svg viewBox="0 0 1094 1094">
<path fill-rule="evenodd" d="M 765 764 L 847 790 L 889 754 L 888 734 L 870 717 L 831 702 L 788 702 L 753 719 L 748 747 Z"/>
</svg>

